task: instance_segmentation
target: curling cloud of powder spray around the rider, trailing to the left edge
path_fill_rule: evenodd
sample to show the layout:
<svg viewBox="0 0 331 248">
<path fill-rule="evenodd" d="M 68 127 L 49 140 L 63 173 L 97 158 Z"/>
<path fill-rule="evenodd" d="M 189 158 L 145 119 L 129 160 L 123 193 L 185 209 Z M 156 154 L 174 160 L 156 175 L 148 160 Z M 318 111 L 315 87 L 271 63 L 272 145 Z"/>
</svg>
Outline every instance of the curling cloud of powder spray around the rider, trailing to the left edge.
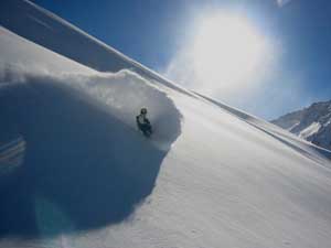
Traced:
<svg viewBox="0 0 331 248">
<path fill-rule="evenodd" d="M 85 100 L 98 104 L 99 108 L 132 129 L 137 129 L 136 116 L 145 107 L 154 130 L 151 142 L 161 150 L 169 150 L 181 133 L 182 115 L 173 101 L 154 84 L 128 69 L 118 73 L 52 75 L 50 72 L 28 73 L 7 66 L 4 69 L 0 68 L 0 79 L 7 83 L 38 79 L 70 86 L 87 94 L 90 98 Z"/>
</svg>

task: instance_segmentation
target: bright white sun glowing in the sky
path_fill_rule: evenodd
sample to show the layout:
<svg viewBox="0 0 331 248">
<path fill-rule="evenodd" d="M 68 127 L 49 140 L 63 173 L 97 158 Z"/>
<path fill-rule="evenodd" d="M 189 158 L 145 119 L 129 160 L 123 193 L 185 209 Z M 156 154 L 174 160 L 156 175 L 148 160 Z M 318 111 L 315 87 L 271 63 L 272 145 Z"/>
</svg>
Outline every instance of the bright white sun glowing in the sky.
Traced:
<svg viewBox="0 0 331 248">
<path fill-rule="evenodd" d="M 210 89 L 229 90 L 254 78 L 267 43 L 244 18 L 216 13 L 204 18 L 193 39 L 195 76 Z"/>
</svg>

